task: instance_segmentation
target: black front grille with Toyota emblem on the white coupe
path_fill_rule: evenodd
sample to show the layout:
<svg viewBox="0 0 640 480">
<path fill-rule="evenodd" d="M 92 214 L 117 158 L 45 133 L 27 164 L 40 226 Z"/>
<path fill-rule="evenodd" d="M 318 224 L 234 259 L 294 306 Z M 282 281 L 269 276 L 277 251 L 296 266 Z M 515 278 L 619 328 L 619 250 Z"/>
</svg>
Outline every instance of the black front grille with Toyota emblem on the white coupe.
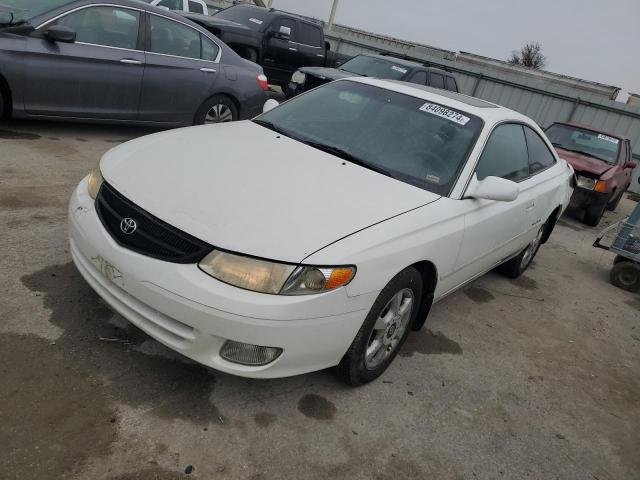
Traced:
<svg viewBox="0 0 640 480">
<path fill-rule="evenodd" d="M 138 207 L 106 182 L 96 198 L 96 212 L 118 244 L 148 257 L 173 263 L 196 263 L 213 249 Z M 123 219 L 135 221 L 132 233 L 125 233 L 121 228 Z"/>
</svg>

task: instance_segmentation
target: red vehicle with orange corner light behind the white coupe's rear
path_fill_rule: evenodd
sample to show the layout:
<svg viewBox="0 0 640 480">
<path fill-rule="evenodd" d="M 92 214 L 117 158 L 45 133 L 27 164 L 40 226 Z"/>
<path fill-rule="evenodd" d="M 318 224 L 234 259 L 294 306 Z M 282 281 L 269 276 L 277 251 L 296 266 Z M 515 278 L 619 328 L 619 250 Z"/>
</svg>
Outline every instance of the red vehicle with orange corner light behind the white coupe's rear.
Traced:
<svg viewBox="0 0 640 480">
<path fill-rule="evenodd" d="M 631 182 L 636 167 L 631 142 L 574 123 L 556 122 L 545 133 L 558 156 L 576 172 L 577 187 L 571 203 L 584 209 L 584 223 L 598 225 L 605 209 L 616 209 Z"/>
</svg>

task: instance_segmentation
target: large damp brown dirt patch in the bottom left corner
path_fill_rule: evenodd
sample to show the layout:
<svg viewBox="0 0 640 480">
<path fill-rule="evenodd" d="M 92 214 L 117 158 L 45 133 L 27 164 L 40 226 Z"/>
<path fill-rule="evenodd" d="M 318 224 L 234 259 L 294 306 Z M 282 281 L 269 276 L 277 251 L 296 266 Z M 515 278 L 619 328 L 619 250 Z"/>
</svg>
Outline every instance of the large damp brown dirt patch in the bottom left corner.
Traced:
<svg viewBox="0 0 640 480">
<path fill-rule="evenodd" d="M 1 335 L 0 379 L 2 478 L 60 478 L 108 452 L 116 425 L 101 382 L 58 345 Z"/>
</svg>

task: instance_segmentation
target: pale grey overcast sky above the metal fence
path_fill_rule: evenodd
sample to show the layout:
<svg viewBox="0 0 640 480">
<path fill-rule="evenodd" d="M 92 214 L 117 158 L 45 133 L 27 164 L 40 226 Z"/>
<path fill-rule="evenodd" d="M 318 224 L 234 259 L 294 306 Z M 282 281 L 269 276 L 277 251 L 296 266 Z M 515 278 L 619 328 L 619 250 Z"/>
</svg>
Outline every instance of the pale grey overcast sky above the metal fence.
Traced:
<svg viewBox="0 0 640 480">
<path fill-rule="evenodd" d="M 331 0 L 273 0 L 327 20 Z M 640 0 L 339 0 L 336 23 L 506 60 L 537 41 L 546 70 L 640 94 Z"/>
</svg>

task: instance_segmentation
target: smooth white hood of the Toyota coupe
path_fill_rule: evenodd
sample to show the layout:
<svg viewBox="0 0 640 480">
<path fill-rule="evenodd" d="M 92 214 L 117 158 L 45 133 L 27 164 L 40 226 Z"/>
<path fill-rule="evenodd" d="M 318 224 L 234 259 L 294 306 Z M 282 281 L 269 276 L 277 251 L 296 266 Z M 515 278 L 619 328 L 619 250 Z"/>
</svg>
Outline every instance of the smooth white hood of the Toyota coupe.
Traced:
<svg viewBox="0 0 640 480">
<path fill-rule="evenodd" d="M 165 222 L 287 262 L 440 198 L 250 121 L 142 137 L 107 152 L 100 168 Z"/>
</svg>

